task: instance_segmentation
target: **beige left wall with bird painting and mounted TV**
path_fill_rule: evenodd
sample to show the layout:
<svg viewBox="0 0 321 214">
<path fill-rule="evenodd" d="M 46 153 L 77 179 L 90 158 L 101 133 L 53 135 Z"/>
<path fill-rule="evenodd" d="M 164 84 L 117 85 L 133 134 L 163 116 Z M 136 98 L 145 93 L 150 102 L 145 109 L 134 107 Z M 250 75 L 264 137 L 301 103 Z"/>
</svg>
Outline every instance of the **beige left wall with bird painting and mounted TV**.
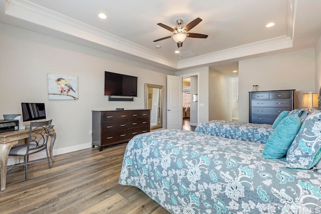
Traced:
<svg viewBox="0 0 321 214">
<path fill-rule="evenodd" d="M 54 154 L 90 147 L 91 110 L 144 108 L 145 83 L 167 93 L 167 70 L 34 32 L 0 24 L 0 47 L 0 118 L 21 113 L 21 102 L 45 103 L 57 132 Z M 138 77 L 133 102 L 108 101 L 104 71 Z M 48 100 L 48 73 L 77 75 L 79 100 Z M 166 127 L 166 108 L 163 115 Z"/>
</svg>

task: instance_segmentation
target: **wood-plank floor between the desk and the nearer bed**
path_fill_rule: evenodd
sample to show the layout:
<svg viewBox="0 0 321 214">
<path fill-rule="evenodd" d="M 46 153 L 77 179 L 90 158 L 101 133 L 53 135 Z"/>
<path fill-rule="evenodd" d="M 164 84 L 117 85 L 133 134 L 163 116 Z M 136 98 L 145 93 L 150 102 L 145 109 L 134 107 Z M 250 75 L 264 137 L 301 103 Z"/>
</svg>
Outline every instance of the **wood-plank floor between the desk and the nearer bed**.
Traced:
<svg viewBox="0 0 321 214">
<path fill-rule="evenodd" d="M 118 184 L 126 143 L 88 148 L 7 172 L 1 213 L 169 213 L 134 186 Z"/>
</svg>

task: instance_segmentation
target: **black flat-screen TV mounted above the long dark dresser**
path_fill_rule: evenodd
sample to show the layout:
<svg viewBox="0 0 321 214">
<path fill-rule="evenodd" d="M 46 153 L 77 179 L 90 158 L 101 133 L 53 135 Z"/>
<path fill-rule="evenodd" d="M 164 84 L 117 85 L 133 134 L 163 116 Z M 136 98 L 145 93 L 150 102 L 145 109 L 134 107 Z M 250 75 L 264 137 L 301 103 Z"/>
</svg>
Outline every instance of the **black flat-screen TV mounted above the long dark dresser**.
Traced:
<svg viewBox="0 0 321 214">
<path fill-rule="evenodd" d="M 137 97 L 137 77 L 105 71 L 105 95 Z"/>
</svg>

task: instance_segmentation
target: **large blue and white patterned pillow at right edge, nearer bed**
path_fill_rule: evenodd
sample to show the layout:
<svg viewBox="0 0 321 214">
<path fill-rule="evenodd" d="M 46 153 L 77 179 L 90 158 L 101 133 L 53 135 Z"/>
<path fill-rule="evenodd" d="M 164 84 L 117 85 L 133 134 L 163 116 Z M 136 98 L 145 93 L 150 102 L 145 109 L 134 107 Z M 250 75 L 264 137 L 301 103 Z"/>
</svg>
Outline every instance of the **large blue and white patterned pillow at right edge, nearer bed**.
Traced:
<svg viewBox="0 0 321 214">
<path fill-rule="evenodd" d="M 312 168 L 321 158 L 321 112 L 309 114 L 286 154 L 289 168 Z"/>
</svg>

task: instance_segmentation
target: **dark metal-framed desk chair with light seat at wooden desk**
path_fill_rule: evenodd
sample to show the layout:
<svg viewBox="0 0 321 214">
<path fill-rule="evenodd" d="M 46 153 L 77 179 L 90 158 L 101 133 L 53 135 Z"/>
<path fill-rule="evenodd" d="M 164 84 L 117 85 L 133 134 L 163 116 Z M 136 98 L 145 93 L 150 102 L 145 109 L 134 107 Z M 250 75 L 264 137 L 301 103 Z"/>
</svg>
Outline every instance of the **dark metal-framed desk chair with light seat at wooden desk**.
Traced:
<svg viewBox="0 0 321 214">
<path fill-rule="evenodd" d="M 31 122 L 28 143 L 24 145 L 18 145 L 11 148 L 9 156 L 24 156 L 25 159 L 25 175 L 28 180 L 28 159 L 29 155 L 42 150 L 46 150 L 48 166 L 50 168 L 50 161 L 47 149 L 47 142 L 49 138 L 49 132 L 51 128 L 52 120 L 45 122 Z"/>
</svg>

